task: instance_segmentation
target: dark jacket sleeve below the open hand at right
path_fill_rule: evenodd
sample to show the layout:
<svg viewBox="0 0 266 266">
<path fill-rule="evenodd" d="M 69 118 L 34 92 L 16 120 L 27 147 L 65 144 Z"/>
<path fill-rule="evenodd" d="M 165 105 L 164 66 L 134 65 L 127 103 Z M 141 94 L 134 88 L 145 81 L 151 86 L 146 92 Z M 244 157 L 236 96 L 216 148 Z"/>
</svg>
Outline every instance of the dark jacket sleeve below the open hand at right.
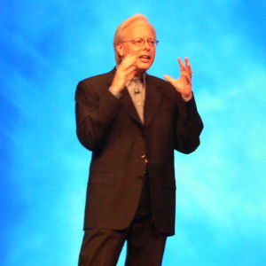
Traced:
<svg viewBox="0 0 266 266">
<path fill-rule="evenodd" d="M 176 121 L 176 150 L 181 153 L 192 153 L 200 145 L 200 133 L 203 123 L 194 97 L 188 102 L 178 93 L 178 117 Z"/>
</svg>

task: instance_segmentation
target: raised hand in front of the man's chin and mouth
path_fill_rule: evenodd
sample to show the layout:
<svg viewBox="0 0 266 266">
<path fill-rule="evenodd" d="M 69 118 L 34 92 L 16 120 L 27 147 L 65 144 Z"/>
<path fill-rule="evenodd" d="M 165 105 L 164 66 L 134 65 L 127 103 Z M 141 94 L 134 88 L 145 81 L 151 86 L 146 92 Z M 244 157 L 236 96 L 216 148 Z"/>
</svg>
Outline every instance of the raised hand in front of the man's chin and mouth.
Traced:
<svg viewBox="0 0 266 266">
<path fill-rule="evenodd" d="M 137 73 L 136 69 L 137 56 L 129 54 L 125 59 L 121 61 L 121 64 L 117 66 L 113 82 L 111 87 L 116 92 L 123 90 L 132 78 Z"/>
</svg>

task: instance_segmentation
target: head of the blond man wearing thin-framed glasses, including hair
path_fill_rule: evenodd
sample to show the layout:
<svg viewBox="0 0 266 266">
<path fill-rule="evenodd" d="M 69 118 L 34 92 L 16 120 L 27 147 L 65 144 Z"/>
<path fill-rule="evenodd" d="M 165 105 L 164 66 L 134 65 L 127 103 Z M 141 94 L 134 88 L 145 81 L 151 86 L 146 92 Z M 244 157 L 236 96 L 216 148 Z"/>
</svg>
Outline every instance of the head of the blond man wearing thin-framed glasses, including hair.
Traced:
<svg viewBox="0 0 266 266">
<path fill-rule="evenodd" d="M 148 42 L 142 44 L 132 42 L 140 39 L 155 40 L 156 33 L 147 18 L 137 14 L 124 20 L 116 29 L 113 48 L 117 64 L 120 64 L 128 54 L 137 55 L 137 70 L 143 73 L 153 65 L 156 47 Z"/>
</svg>

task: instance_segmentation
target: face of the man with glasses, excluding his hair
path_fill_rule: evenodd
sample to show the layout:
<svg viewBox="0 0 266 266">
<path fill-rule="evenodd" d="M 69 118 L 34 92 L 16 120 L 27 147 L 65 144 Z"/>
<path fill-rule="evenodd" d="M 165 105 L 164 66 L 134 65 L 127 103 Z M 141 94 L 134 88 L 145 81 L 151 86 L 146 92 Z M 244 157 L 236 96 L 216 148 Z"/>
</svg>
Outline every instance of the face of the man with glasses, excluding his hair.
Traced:
<svg viewBox="0 0 266 266">
<path fill-rule="evenodd" d="M 122 41 L 131 41 L 137 39 L 155 39 L 153 27 L 145 21 L 136 21 L 126 27 L 122 37 Z M 137 73 L 143 74 L 153 65 L 155 58 L 155 46 L 150 46 L 147 42 L 141 47 L 137 47 L 135 43 L 119 43 L 116 45 L 116 51 L 119 52 L 121 60 L 127 55 L 137 56 Z"/>
</svg>

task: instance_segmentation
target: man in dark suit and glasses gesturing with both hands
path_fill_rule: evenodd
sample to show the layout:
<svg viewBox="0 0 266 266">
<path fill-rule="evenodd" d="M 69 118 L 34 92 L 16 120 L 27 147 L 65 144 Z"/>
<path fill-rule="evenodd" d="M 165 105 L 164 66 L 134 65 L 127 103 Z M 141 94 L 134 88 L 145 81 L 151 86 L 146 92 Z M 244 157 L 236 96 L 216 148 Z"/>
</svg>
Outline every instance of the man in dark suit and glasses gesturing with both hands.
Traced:
<svg viewBox="0 0 266 266">
<path fill-rule="evenodd" d="M 113 40 L 117 66 L 77 86 L 76 125 L 92 151 L 79 265 L 160 265 L 175 233 L 174 150 L 192 153 L 203 128 L 192 94 L 192 68 L 165 82 L 146 74 L 156 34 L 143 15 L 125 20 Z"/>
</svg>

